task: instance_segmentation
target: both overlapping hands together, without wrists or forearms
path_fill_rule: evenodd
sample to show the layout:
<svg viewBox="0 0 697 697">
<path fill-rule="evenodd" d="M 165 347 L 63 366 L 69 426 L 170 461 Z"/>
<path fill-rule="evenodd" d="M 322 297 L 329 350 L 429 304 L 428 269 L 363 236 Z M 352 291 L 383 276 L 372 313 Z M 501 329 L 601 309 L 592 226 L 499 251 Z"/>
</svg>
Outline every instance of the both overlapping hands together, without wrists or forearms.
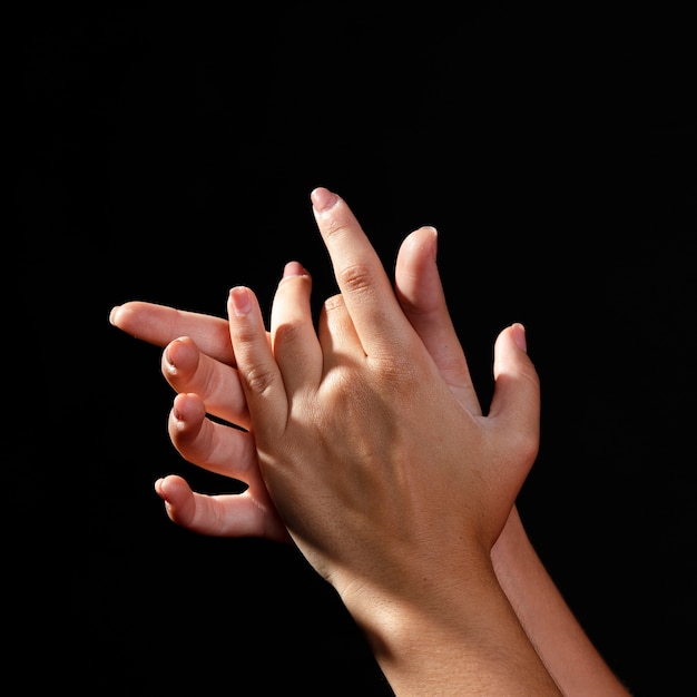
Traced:
<svg viewBox="0 0 697 697">
<path fill-rule="evenodd" d="M 524 331 L 512 325 L 495 342 L 484 416 L 443 297 L 435 230 L 406 237 L 393 288 L 345 202 L 326 189 L 312 202 L 341 292 L 317 330 L 311 276 L 295 262 L 269 332 L 245 287 L 230 291 L 228 323 L 147 303 L 112 311 L 121 330 L 170 342 L 163 373 L 177 392 L 169 435 L 180 454 L 247 483 L 209 497 L 169 475 L 156 490 L 190 530 L 292 539 L 340 593 L 356 575 L 395 593 L 434 565 L 461 576 L 472 554 L 490 554 L 537 455 L 539 382 Z"/>
</svg>

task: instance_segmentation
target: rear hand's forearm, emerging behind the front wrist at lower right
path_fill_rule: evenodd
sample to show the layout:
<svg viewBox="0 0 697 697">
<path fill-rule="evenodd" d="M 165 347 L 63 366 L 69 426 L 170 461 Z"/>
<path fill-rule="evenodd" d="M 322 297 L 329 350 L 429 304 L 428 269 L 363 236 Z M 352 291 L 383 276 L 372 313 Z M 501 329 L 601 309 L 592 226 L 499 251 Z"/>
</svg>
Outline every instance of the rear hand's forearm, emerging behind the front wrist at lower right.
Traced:
<svg viewBox="0 0 697 697">
<path fill-rule="evenodd" d="M 492 550 L 499 583 L 567 697 L 628 697 L 532 548 L 517 509 Z"/>
</svg>

